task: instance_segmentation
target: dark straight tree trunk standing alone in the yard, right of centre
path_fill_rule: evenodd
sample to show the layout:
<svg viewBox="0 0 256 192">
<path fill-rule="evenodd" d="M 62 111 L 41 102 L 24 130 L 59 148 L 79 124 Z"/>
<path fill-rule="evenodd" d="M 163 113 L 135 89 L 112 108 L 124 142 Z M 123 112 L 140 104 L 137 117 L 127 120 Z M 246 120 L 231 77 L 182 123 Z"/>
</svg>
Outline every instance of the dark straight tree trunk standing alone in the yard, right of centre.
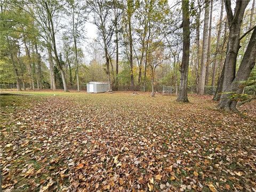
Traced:
<svg viewBox="0 0 256 192">
<path fill-rule="evenodd" d="M 189 66 L 189 1 L 182 1 L 183 54 L 180 67 L 180 91 L 177 101 L 188 102 L 188 66 Z"/>
</svg>

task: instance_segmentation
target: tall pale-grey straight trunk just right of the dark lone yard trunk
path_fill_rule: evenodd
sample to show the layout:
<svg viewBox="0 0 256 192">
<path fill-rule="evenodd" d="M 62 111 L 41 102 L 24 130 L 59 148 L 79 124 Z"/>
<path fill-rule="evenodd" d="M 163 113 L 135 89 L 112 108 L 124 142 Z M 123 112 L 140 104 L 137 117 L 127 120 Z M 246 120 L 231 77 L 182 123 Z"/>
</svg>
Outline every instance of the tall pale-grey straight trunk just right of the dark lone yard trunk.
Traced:
<svg viewBox="0 0 256 192">
<path fill-rule="evenodd" d="M 209 0 L 205 0 L 204 12 L 204 32 L 203 32 L 203 47 L 201 57 L 201 73 L 199 75 L 198 94 L 204 94 L 206 65 L 207 65 L 207 49 L 208 49 L 208 33 L 209 33 Z"/>
</svg>

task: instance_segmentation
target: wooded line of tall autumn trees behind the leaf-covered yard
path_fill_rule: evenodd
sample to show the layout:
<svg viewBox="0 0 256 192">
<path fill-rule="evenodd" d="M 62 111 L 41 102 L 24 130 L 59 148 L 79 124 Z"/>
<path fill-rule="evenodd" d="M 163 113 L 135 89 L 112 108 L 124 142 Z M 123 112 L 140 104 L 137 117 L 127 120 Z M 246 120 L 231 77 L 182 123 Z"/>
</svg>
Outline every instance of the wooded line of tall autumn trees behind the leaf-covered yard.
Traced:
<svg viewBox="0 0 256 192">
<path fill-rule="evenodd" d="M 201 95 L 210 87 L 220 108 L 236 110 L 231 97 L 255 79 L 254 7 L 255 0 L 2 0 L 1 85 L 80 91 L 107 81 L 109 91 L 151 95 L 167 85 L 183 102 L 188 86 Z M 97 27 L 90 43 L 87 23 Z"/>
</svg>

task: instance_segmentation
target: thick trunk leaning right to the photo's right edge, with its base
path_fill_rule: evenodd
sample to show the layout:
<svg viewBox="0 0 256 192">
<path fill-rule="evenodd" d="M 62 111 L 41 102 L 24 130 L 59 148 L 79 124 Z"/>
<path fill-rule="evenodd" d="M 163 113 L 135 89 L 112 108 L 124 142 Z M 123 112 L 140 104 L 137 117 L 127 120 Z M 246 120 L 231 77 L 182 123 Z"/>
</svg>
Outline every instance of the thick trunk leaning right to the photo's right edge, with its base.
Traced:
<svg viewBox="0 0 256 192">
<path fill-rule="evenodd" d="M 236 109 L 237 101 L 232 101 L 230 96 L 232 93 L 241 94 L 243 92 L 244 86 L 243 82 L 246 81 L 255 65 L 256 60 L 256 30 L 253 30 L 250 42 L 247 46 L 247 49 L 244 53 L 241 65 L 237 71 L 236 77 L 233 82 L 226 89 L 226 94 L 221 95 L 221 100 L 218 107 L 225 110 L 238 111 Z"/>
</svg>

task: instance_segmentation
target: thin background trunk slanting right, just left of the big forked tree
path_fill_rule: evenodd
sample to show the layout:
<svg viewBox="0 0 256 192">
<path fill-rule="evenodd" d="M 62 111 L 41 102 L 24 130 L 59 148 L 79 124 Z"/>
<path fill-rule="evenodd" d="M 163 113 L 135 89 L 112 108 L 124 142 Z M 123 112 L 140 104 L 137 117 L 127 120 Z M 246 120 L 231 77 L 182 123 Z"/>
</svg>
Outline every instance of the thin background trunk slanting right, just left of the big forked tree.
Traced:
<svg viewBox="0 0 256 192">
<path fill-rule="evenodd" d="M 216 78 L 216 71 L 217 71 L 216 60 L 217 60 L 217 54 L 220 51 L 219 49 L 220 49 L 220 35 L 221 35 L 221 27 L 222 27 L 223 8 L 224 8 L 224 3 L 223 3 L 223 1 L 221 1 L 221 11 L 220 11 L 220 20 L 219 20 L 219 29 L 218 29 L 218 35 L 217 35 L 216 51 L 215 51 L 214 59 L 213 59 L 212 87 L 215 86 L 215 78 Z"/>
</svg>

